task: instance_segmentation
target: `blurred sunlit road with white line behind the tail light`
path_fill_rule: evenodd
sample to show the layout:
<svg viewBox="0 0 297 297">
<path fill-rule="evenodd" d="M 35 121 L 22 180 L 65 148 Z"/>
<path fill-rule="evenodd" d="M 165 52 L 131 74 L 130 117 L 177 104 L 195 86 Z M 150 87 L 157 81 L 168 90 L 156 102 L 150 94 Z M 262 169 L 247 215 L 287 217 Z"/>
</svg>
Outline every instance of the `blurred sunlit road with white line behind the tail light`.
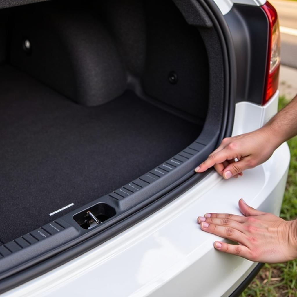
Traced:
<svg viewBox="0 0 297 297">
<path fill-rule="evenodd" d="M 281 64 L 297 68 L 297 1 L 269 0 L 276 8 L 281 31 Z"/>
</svg>

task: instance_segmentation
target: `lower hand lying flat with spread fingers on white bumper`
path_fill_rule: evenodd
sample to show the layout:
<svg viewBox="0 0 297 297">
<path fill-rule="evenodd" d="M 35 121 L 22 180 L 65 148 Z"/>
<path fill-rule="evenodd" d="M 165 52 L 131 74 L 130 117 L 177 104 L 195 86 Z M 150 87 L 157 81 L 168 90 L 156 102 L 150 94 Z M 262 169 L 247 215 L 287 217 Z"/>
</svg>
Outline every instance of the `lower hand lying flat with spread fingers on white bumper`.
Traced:
<svg viewBox="0 0 297 297">
<path fill-rule="evenodd" d="M 258 211 L 243 199 L 238 205 L 244 217 L 211 213 L 197 219 L 203 231 L 238 242 L 215 241 L 217 250 L 263 263 L 281 263 L 297 258 L 297 220 L 285 221 Z"/>
</svg>

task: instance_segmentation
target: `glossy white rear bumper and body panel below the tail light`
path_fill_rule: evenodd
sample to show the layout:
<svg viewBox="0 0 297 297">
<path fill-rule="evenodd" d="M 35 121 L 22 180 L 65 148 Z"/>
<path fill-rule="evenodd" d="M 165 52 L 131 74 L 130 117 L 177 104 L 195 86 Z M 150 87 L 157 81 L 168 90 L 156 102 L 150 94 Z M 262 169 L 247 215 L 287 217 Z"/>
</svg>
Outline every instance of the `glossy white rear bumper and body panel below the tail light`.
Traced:
<svg viewBox="0 0 297 297">
<path fill-rule="evenodd" d="M 237 103 L 233 135 L 259 128 L 276 113 L 277 102 L 278 92 L 264 107 Z M 222 238 L 200 230 L 196 218 L 240 214 L 239 198 L 279 214 L 289 161 L 283 143 L 241 178 L 226 181 L 213 171 L 128 230 L 2 296 L 229 296 L 256 263 L 215 250 Z"/>
</svg>

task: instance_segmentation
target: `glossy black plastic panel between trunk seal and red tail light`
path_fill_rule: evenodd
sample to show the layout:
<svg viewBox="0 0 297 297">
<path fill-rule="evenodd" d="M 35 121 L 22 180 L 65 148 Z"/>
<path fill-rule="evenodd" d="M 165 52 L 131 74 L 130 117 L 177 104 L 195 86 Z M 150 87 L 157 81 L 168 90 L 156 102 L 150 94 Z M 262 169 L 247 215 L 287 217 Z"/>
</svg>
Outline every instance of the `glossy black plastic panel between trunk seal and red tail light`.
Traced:
<svg viewBox="0 0 297 297">
<path fill-rule="evenodd" d="M 224 16 L 236 56 L 236 102 L 262 104 L 268 48 L 268 19 L 259 6 L 233 4 Z"/>
</svg>

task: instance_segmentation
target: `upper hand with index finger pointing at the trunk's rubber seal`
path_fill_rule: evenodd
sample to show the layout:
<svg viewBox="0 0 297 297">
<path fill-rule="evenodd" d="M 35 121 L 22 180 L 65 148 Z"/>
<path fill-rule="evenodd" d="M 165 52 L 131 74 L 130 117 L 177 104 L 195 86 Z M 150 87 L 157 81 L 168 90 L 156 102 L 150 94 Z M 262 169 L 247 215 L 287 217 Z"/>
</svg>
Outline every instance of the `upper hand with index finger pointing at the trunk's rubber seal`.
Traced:
<svg viewBox="0 0 297 297">
<path fill-rule="evenodd" d="M 220 146 L 195 171 L 203 172 L 214 166 L 226 179 L 238 177 L 243 170 L 268 160 L 278 146 L 275 135 L 272 135 L 269 127 L 264 126 L 254 132 L 223 139 Z M 237 162 L 234 160 L 236 158 Z"/>
</svg>

